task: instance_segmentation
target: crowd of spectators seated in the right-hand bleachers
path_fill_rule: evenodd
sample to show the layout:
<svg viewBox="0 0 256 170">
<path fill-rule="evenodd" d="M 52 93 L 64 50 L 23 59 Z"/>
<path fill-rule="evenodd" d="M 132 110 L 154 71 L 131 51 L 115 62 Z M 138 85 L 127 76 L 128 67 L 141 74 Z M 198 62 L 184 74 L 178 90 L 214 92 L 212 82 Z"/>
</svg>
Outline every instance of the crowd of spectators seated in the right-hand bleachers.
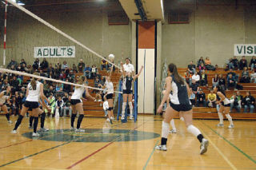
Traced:
<svg viewBox="0 0 256 170">
<path fill-rule="evenodd" d="M 247 64 L 246 58 L 242 57 L 238 61 L 237 57 L 230 58 L 226 63 L 226 76 L 222 74 L 215 74 L 211 80 L 211 86 L 208 82 L 208 75 L 206 70 L 215 70 L 218 69 L 218 65 L 211 65 L 209 57 L 206 57 L 204 60 L 203 57 L 197 62 L 197 65 L 194 65 L 193 61 L 190 61 L 190 64 L 187 66 L 186 73 L 184 73 L 184 78 L 186 82 L 190 85 L 192 94 L 190 96 L 190 101 L 194 106 L 203 106 L 203 107 L 216 107 L 216 94 L 213 93 L 213 87 L 219 86 L 222 90 L 235 90 L 233 96 L 230 97 L 231 107 L 230 111 L 234 110 L 238 113 L 243 112 L 253 113 L 255 108 L 255 98 L 246 92 L 246 96 L 242 97 L 238 90 L 242 90 L 243 87 L 239 83 L 256 83 L 256 59 L 252 57 L 249 65 Z M 236 70 L 242 70 L 241 75 L 238 74 Z M 250 71 L 249 71 L 250 70 Z M 256 85 L 256 84 L 255 84 Z M 203 92 L 203 87 L 210 89 L 209 94 Z"/>
</svg>

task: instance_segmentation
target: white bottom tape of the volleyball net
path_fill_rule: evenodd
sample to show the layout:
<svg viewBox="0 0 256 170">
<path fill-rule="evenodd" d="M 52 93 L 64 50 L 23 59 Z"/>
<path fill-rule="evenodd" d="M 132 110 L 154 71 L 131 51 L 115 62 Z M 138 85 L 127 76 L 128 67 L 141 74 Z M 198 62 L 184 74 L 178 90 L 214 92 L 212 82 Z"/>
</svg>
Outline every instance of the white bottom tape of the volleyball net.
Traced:
<svg viewBox="0 0 256 170">
<path fill-rule="evenodd" d="M 53 78 L 47 78 L 47 77 L 37 76 L 37 75 L 34 75 L 34 74 L 30 74 L 30 73 L 23 73 L 23 72 L 19 72 L 19 71 L 14 71 L 12 69 L 0 68 L 0 72 L 14 73 L 14 74 L 17 74 L 17 75 L 22 75 L 22 76 L 27 76 L 27 77 L 34 77 L 34 78 L 42 79 L 42 80 L 45 80 L 45 81 L 54 81 L 54 82 L 62 83 L 62 84 L 66 84 L 66 85 L 74 85 L 74 86 L 79 86 L 79 87 L 86 87 L 88 89 L 97 89 L 97 90 L 101 90 L 101 91 L 104 90 L 104 89 L 98 89 L 98 88 L 95 88 L 95 87 L 90 87 L 88 85 L 78 85 L 78 84 L 75 84 L 75 83 L 70 83 L 70 82 L 66 82 L 66 81 L 60 81 L 60 80 L 56 80 L 56 79 L 53 79 Z M 122 93 L 122 92 L 114 91 L 114 93 Z"/>
</svg>

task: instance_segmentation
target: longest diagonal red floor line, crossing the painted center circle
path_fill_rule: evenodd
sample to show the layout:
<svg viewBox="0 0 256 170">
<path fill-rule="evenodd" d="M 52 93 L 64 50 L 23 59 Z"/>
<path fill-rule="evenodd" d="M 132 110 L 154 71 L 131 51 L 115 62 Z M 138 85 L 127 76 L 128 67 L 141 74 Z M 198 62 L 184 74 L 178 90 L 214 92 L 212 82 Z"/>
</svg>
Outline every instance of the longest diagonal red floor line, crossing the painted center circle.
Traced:
<svg viewBox="0 0 256 170">
<path fill-rule="evenodd" d="M 145 123 L 146 123 L 146 122 L 143 122 L 142 125 L 144 125 Z M 139 125 L 139 126 L 137 126 L 136 128 L 134 128 L 133 130 L 130 130 L 130 131 L 127 132 L 125 135 L 127 135 L 127 134 L 129 134 L 130 132 L 134 131 L 135 129 L 141 127 L 142 125 Z M 116 139 L 110 141 L 110 143 L 104 145 L 102 148 L 98 148 L 98 150 L 96 150 L 96 151 L 90 153 L 88 156 L 82 158 L 82 160 L 78 160 L 77 162 L 75 162 L 74 164 L 70 165 L 70 166 L 69 166 L 68 168 L 66 168 L 66 169 L 74 168 L 74 166 L 76 166 L 77 164 L 80 164 L 82 161 L 87 160 L 88 158 L 90 158 L 90 156 L 94 156 L 96 153 L 102 151 L 104 148 L 110 146 L 110 144 L 113 144 L 115 141 L 121 139 L 121 138 L 122 138 L 123 136 L 125 136 L 125 135 L 122 134 L 122 135 L 118 136 Z"/>
</svg>

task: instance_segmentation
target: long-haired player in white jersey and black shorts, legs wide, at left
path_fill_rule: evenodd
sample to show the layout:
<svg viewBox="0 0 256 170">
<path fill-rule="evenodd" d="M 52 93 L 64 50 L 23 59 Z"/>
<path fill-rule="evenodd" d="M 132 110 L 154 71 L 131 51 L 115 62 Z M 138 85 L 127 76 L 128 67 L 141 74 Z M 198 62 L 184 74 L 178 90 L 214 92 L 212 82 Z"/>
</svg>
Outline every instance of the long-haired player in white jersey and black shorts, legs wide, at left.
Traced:
<svg viewBox="0 0 256 170">
<path fill-rule="evenodd" d="M 38 76 L 38 73 L 34 73 L 34 75 Z M 42 99 L 42 105 L 48 109 L 48 107 L 46 106 L 46 103 L 44 102 L 44 100 L 47 100 L 47 99 L 43 93 L 43 85 L 42 85 L 42 83 L 40 83 L 37 79 L 35 79 L 33 77 L 32 80 L 30 81 L 29 85 L 27 85 L 26 101 L 22 105 L 21 114 L 18 116 L 18 120 L 16 121 L 14 130 L 12 131 L 12 133 L 17 133 L 17 128 L 22 123 L 22 119 L 23 119 L 24 115 L 26 114 L 26 112 L 29 109 L 32 109 L 32 114 L 34 116 L 34 132 L 33 132 L 32 136 L 39 136 L 39 134 L 37 132 L 38 115 L 39 115 L 39 113 L 41 113 L 40 112 L 41 109 L 39 109 L 39 103 L 38 103 L 39 97 Z"/>
</svg>

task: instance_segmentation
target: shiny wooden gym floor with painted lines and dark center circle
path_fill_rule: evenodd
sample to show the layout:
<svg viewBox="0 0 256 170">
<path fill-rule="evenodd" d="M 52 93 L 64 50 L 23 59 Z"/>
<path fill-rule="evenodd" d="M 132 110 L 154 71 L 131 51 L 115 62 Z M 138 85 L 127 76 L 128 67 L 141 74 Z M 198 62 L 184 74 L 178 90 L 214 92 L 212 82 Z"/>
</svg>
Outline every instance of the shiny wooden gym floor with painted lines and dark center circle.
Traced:
<svg viewBox="0 0 256 170">
<path fill-rule="evenodd" d="M 218 121 L 194 121 L 210 140 L 202 156 L 198 140 L 178 119 L 167 152 L 154 150 L 161 140 L 159 116 L 114 125 L 86 117 L 83 133 L 70 132 L 70 118 L 46 118 L 50 132 L 37 139 L 28 121 L 24 118 L 18 134 L 10 134 L 14 124 L 0 117 L 0 169 L 256 169 L 256 121 L 234 121 L 234 129 L 227 128 L 227 121 L 224 128 L 215 126 Z"/>
</svg>

